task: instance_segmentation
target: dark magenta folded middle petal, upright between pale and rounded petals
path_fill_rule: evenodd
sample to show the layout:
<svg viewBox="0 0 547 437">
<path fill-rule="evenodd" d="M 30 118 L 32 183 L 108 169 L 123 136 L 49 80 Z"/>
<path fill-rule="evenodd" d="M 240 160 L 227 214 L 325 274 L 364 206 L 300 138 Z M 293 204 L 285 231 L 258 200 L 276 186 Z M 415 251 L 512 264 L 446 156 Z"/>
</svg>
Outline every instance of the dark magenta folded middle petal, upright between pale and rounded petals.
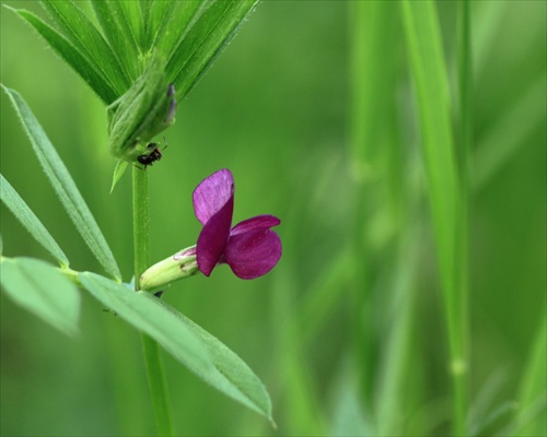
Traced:
<svg viewBox="0 0 547 437">
<path fill-rule="evenodd" d="M 233 196 L 224 205 L 212 215 L 203 225 L 196 246 L 196 259 L 198 269 L 209 276 L 217 265 L 230 238 L 232 227 L 232 214 L 234 209 Z"/>
</svg>

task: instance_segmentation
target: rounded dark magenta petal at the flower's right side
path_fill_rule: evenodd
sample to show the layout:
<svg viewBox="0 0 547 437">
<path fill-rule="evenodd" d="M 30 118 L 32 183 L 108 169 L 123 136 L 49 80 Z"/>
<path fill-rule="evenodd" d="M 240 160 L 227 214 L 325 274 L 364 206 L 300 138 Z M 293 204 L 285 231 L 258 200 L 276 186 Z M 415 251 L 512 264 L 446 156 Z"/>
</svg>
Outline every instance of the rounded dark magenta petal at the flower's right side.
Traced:
<svg viewBox="0 0 547 437">
<path fill-rule="evenodd" d="M 259 228 L 232 235 L 223 261 L 237 277 L 252 280 L 274 269 L 281 252 L 279 236 L 274 231 Z"/>
</svg>

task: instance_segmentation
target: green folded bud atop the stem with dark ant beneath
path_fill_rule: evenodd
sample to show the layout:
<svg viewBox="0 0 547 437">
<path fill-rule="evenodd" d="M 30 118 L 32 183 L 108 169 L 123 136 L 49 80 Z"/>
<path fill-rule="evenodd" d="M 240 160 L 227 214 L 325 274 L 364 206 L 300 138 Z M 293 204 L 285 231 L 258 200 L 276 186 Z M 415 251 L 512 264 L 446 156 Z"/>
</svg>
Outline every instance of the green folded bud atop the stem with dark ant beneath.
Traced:
<svg viewBox="0 0 547 437">
<path fill-rule="evenodd" d="M 155 149 L 152 138 L 175 122 L 175 88 L 166 81 L 164 62 L 152 58 L 135 84 L 106 108 L 112 154 L 142 163 Z"/>
</svg>

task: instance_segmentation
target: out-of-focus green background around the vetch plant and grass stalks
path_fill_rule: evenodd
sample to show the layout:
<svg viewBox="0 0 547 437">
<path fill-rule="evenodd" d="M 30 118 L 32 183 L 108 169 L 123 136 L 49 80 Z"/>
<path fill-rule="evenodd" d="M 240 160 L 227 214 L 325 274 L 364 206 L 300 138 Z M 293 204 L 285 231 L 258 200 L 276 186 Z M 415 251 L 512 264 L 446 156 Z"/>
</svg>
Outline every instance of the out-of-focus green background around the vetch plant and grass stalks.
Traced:
<svg viewBox="0 0 547 437">
<path fill-rule="evenodd" d="M 3 3 L 43 14 L 36 2 Z M 546 317 L 546 4 L 500 1 L 472 8 L 470 391 L 477 411 L 484 398 L 486 410 L 500 410 L 484 435 L 502 429 L 516 411 L 531 349 Z M 403 317 L 400 302 L 411 306 L 411 321 L 403 326 L 409 330 L 410 352 L 401 366 L 400 411 L 389 420 L 408 434 L 449 433 L 445 323 L 401 23 L 395 23 L 393 40 L 383 47 L 398 54 L 396 98 L 389 118 L 382 120 L 387 133 L 379 139 L 375 161 L 383 164 L 360 169 L 357 178 L 349 80 L 354 7 L 261 2 L 179 103 L 177 121 L 165 132 L 164 158 L 148 169 L 154 260 L 195 244 L 200 225 L 191 191 L 219 168 L 230 168 L 235 177 L 234 222 L 263 213 L 282 221 L 283 257 L 270 274 L 241 281 L 222 267 L 209 279 L 191 277 L 165 294 L 263 379 L 279 429 L 165 355 L 181 435 L 372 433 L 382 410 L 379 399 L 386 401 L 379 398 L 386 359 L 403 359 L 388 355 L 392 328 Z M 457 3 L 438 7 L 453 81 Z M 0 12 L 1 81 L 34 110 L 129 281 L 130 177 L 108 194 L 115 162 L 107 151 L 104 107 L 15 14 Z M 388 152 L 382 142 L 386 134 L 397 139 Z M 400 177 L 384 173 L 387 161 L 396 163 Z M 103 273 L 48 186 L 4 94 L 1 173 L 73 269 Z M 409 215 L 397 212 L 408 204 L 419 229 L 410 236 L 401 223 Z M 3 255 L 49 260 L 4 209 L 1 234 Z M 349 248 L 361 238 L 368 252 L 350 257 Z M 400 259 L 401 241 L 417 246 L 410 252 L 418 257 Z M 354 297 L 356 270 L 369 275 L 364 302 Z M 412 284 L 408 298 L 399 293 L 406 281 Z M 70 340 L 2 294 L 2 435 L 153 433 L 138 333 L 82 296 L 81 334 Z M 359 342 L 366 344 L 366 368 L 359 366 Z M 540 363 L 545 368 L 545 359 Z M 360 374 L 369 374 L 364 379 L 374 387 L 363 388 Z"/>
</svg>

